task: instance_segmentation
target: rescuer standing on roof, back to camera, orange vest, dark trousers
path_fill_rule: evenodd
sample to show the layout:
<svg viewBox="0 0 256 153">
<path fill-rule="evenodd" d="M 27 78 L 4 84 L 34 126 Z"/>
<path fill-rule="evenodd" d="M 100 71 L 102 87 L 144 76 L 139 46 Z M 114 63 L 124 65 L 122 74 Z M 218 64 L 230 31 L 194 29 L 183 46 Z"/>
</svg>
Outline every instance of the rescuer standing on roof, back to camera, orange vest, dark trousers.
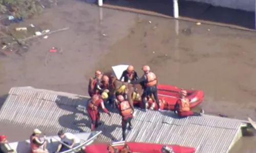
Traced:
<svg viewBox="0 0 256 153">
<path fill-rule="evenodd" d="M 127 124 L 129 124 L 129 129 L 132 129 L 132 119 L 133 119 L 133 110 L 129 104 L 129 101 L 125 100 L 122 95 L 117 96 L 117 100 L 119 104 L 117 105 L 117 108 L 119 110 L 119 114 L 122 116 L 122 136 L 123 141 L 125 141 L 126 138 L 126 127 Z"/>
</svg>

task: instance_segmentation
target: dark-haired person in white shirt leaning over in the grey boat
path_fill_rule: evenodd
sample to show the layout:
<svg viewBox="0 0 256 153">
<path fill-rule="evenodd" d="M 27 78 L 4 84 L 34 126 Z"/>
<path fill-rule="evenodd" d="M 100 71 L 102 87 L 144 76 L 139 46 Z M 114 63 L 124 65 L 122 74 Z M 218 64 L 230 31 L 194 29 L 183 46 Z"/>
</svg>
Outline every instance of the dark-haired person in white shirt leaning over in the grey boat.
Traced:
<svg viewBox="0 0 256 153">
<path fill-rule="evenodd" d="M 80 139 L 78 139 L 72 133 L 64 133 L 63 130 L 58 132 L 58 136 L 60 137 L 60 144 L 58 145 L 56 152 L 63 152 L 72 149 L 76 144 L 80 143 Z"/>
</svg>

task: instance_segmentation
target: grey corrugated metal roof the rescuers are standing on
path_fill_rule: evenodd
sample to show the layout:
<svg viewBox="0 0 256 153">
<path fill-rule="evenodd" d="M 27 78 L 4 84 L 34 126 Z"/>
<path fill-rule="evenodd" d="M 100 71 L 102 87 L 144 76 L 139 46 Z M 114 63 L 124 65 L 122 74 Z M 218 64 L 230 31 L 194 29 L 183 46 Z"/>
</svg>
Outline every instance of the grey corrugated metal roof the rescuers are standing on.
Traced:
<svg viewBox="0 0 256 153">
<path fill-rule="evenodd" d="M 86 106 L 87 98 L 49 90 L 12 88 L 0 111 L 0 121 L 39 127 L 43 131 L 89 132 L 89 117 L 77 110 Z M 121 117 L 117 113 L 101 115 L 99 141 L 121 140 Z M 239 133 L 242 122 L 222 117 L 176 118 L 172 112 L 136 110 L 134 129 L 127 132 L 127 141 L 179 144 L 197 148 L 202 153 L 224 153 Z M 79 126 L 78 126 L 79 125 Z"/>
</svg>

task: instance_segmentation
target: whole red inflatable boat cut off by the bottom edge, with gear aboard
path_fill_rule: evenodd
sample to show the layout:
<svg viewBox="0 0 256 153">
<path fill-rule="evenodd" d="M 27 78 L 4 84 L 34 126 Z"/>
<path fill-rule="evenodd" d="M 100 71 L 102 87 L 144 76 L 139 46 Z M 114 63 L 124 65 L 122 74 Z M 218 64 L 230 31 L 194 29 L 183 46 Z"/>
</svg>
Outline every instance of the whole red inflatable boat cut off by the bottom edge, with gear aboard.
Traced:
<svg viewBox="0 0 256 153">
<path fill-rule="evenodd" d="M 142 142 L 115 142 L 112 144 L 91 144 L 86 146 L 86 153 L 119 153 L 119 152 L 137 152 L 137 153 L 162 153 L 163 146 L 168 147 L 170 153 L 194 153 L 193 147 L 183 147 L 179 145 L 163 145 Z M 172 151 L 170 151 L 172 150 Z"/>
</svg>

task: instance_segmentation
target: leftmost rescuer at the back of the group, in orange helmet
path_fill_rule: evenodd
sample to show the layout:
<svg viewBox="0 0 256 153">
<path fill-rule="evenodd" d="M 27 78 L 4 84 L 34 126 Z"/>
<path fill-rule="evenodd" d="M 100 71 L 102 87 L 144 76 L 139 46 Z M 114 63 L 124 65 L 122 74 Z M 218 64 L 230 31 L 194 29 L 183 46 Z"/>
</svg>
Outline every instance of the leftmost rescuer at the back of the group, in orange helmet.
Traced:
<svg viewBox="0 0 256 153">
<path fill-rule="evenodd" d="M 99 94 L 101 90 L 101 79 L 103 73 L 99 70 L 95 71 L 95 77 L 89 81 L 88 93 L 92 97 L 94 94 Z"/>
</svg>

